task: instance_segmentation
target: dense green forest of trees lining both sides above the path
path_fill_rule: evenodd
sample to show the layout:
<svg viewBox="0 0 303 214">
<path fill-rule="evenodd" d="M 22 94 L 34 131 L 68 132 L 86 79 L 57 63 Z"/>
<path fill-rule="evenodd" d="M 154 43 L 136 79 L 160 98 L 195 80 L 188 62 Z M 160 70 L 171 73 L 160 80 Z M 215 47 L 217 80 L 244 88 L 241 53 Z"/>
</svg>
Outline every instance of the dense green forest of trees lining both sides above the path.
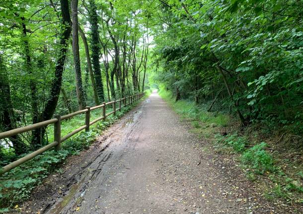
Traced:
<svg viewBox="0 0 303 214">
<path fill-rule="evenodd" d="M 302 8 L 302 0 L 2 0 L 0 132 L 160 88 L 302 147 Z M 1 140 L 1 165 L 47 144 L 47 133 Z"/>
</svg>

